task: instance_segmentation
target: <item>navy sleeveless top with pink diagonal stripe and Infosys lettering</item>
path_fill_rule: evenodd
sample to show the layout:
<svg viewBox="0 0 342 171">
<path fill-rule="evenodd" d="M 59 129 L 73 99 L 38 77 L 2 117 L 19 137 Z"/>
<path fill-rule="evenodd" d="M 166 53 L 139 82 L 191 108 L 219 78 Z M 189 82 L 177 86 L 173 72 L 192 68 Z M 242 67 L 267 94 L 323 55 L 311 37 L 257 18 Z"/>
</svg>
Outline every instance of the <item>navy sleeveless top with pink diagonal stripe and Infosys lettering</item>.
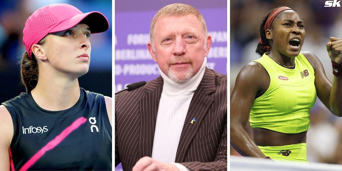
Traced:
<svg viewBox="0 0 342 171">
<path fill-rule="evenodd" d="M 111 170 L 111 126 L 104 96 L 80 88 L 78 102 L 42 109 L 30 92 L 3 103 L 12 116 L 11 170 Z"/>
</svg>

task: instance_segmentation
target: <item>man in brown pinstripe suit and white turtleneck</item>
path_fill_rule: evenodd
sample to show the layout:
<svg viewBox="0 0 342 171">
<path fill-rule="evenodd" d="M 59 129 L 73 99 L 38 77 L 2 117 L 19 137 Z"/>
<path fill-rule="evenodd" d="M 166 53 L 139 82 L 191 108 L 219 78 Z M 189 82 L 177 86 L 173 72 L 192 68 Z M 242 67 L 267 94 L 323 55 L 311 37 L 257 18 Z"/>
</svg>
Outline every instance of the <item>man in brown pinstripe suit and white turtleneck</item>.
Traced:
<svg viewBox="0 0 342 171">
<path fill-rule="evenodd" d="M 115 96 L 123 170 L 227 170 L 227 76 L 206 67 L 211 37 L 190 5 L 154 16 L 147 48 L 161 76 Z"/>
</svg>

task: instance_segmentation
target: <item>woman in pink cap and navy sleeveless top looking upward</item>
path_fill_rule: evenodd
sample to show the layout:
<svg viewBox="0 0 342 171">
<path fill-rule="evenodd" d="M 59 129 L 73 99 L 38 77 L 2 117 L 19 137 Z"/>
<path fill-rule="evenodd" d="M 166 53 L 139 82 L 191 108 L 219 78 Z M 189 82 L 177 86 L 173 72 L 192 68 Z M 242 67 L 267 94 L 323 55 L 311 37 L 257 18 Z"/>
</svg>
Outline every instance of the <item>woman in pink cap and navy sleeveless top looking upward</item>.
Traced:
<svg viewBox="0 0 342 171">
<path fill-rule="evenodd" d="M 89 69 L 90 35 L 108 28 L 100 12 L 68 4 L 27 19 L 27 92 L 0 106 L 0 170 L 111 170 L 111 98 L 78 84 Z"/>
</svg>

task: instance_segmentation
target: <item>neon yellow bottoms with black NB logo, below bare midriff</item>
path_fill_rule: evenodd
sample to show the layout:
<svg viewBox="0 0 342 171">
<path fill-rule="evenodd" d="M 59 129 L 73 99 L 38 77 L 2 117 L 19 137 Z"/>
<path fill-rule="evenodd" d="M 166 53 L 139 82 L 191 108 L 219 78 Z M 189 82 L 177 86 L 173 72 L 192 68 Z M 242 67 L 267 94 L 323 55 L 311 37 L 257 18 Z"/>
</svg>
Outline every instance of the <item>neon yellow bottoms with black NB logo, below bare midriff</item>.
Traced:
<svg viewBox="0 0 342 171">
<path fill-rule="evenodd" d="M 283 146 L 258 146 L 261 152 L 274 160 L 307 162 L 306 143 Z"/>
</svg>

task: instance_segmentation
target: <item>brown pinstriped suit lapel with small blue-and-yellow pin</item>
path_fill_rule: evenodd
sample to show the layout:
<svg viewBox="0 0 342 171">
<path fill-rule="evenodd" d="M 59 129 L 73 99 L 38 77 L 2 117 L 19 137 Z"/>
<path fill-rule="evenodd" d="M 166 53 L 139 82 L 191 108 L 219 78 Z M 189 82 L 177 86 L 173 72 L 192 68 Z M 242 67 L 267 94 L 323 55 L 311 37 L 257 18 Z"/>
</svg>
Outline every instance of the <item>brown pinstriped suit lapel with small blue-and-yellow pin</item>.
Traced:
<svg viewBox="0 0 342 171">
<path fill-rule="evenodd" d="M 202 81 L 196 89 L 193 98 L 191 99 L 188 112 L 183 125 L 183 130 L 177 147 L 175 162 L 182 162 L 186 150 L 194 139 L 197 130 L 199 129 L 202 119 L 207 113 L 209 107 L 214 100 L 209 96 L 216 90 L 214 73 L 206 67 Z M 195 122 L 190 123 L 193 118 Z"/>
</svg>

